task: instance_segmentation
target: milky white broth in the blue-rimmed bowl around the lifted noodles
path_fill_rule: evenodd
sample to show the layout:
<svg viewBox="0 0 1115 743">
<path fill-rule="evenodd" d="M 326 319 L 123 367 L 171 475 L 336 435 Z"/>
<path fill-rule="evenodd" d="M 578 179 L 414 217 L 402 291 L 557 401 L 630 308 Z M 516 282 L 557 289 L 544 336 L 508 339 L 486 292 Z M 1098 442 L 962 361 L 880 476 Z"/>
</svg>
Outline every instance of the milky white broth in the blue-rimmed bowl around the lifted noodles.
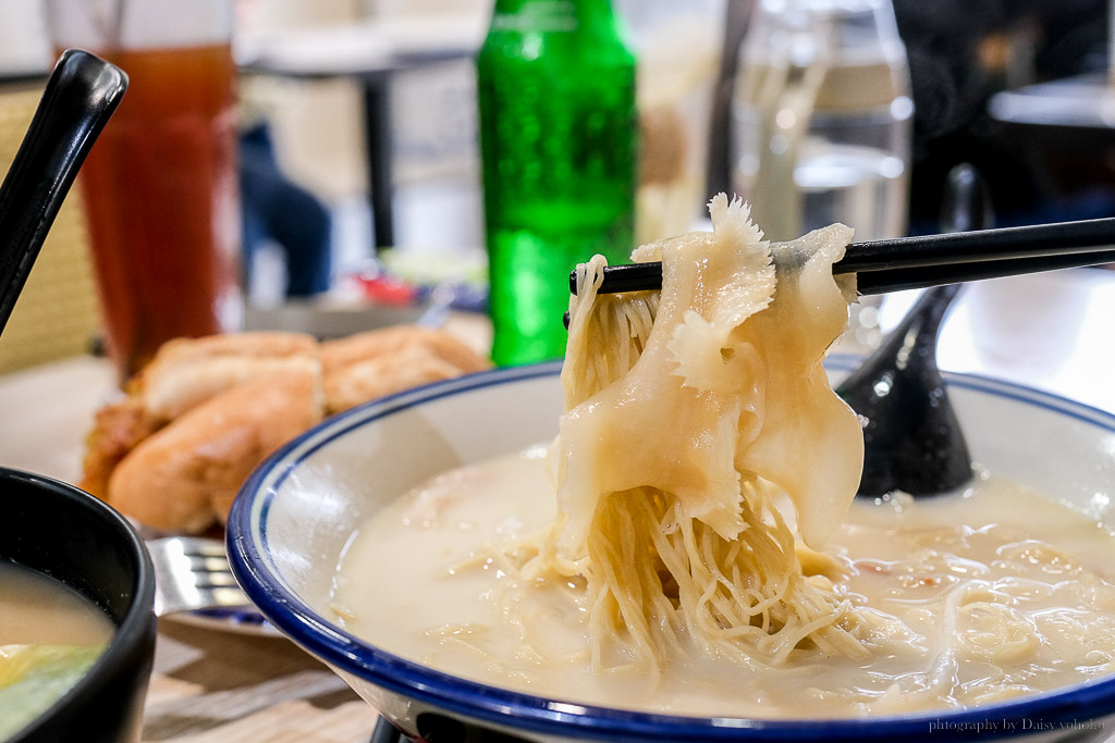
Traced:
<svg viewBox="0 0 1115 743">
<path fill-rule="evenodd" d="M 442 475 L 353 535 L 338 622 L 359 637 L 483 683 L 602 706 L 688 715 L 849 716 L 989 703 L 1111 673 L 1115 538 L 988 478 L 962 495 L 856 502 L 827 551 L 870 607 L 869 661 L 796 651 L 778 668 L 696 651 L 661 678 L 593 669 L 586 598 L 523 586 L 502 545 L 546 527 L 555 497 L 536 447 Z"/>
</svg>

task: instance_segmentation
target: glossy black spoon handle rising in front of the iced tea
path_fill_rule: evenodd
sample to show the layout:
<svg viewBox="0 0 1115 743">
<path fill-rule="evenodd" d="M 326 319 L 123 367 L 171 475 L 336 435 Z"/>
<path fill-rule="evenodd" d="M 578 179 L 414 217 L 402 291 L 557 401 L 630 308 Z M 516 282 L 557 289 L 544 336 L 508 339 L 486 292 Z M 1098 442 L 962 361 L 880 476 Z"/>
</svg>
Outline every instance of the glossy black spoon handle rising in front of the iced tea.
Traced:
<svg viewBox="0 0 1115 743">
<path fill-rule="evenodd" d="M 55 66 L 0 185 L 0 331 L 81 163 L 127 85 L 123 70 L 87 51 L 67 50 Z"/>
</svg>

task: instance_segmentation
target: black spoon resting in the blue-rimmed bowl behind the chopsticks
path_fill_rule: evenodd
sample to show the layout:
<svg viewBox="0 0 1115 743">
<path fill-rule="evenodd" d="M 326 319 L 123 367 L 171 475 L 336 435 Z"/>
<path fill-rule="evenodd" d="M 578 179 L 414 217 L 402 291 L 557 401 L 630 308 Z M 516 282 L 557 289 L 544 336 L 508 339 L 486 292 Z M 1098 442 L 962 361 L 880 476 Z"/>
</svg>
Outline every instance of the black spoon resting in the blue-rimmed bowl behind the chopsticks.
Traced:
<svg viewBox="0 0 1115 743">
<path fill-rule="evenodd" d="M 949 174 L 942 232 L 982 229 L 989 201 L 975 168 Z M 971 456 L 937 368 L 941 321 L 960 284 L 925 291 L 905 317 L 836 392 L 864 419 L 859 495 L 954 491 L 972 480 Z"/>
</svg>

